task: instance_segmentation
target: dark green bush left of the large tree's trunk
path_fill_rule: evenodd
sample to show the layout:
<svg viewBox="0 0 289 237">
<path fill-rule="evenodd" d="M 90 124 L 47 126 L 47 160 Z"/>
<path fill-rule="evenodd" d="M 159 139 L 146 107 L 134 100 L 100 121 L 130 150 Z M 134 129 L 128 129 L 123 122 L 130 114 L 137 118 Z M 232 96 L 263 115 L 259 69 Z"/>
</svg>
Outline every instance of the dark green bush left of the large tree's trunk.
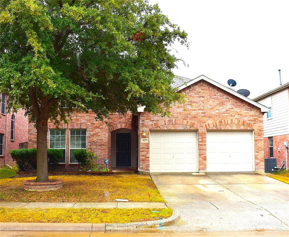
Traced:
<svg viewBox="0 0 289 237">
<path fill-rule="evenodd" d="M 20 171 L 25 171 L 31 160 L 36 160 L 36 149 L 13 149 L 10 155 Z"/>
</svg>

